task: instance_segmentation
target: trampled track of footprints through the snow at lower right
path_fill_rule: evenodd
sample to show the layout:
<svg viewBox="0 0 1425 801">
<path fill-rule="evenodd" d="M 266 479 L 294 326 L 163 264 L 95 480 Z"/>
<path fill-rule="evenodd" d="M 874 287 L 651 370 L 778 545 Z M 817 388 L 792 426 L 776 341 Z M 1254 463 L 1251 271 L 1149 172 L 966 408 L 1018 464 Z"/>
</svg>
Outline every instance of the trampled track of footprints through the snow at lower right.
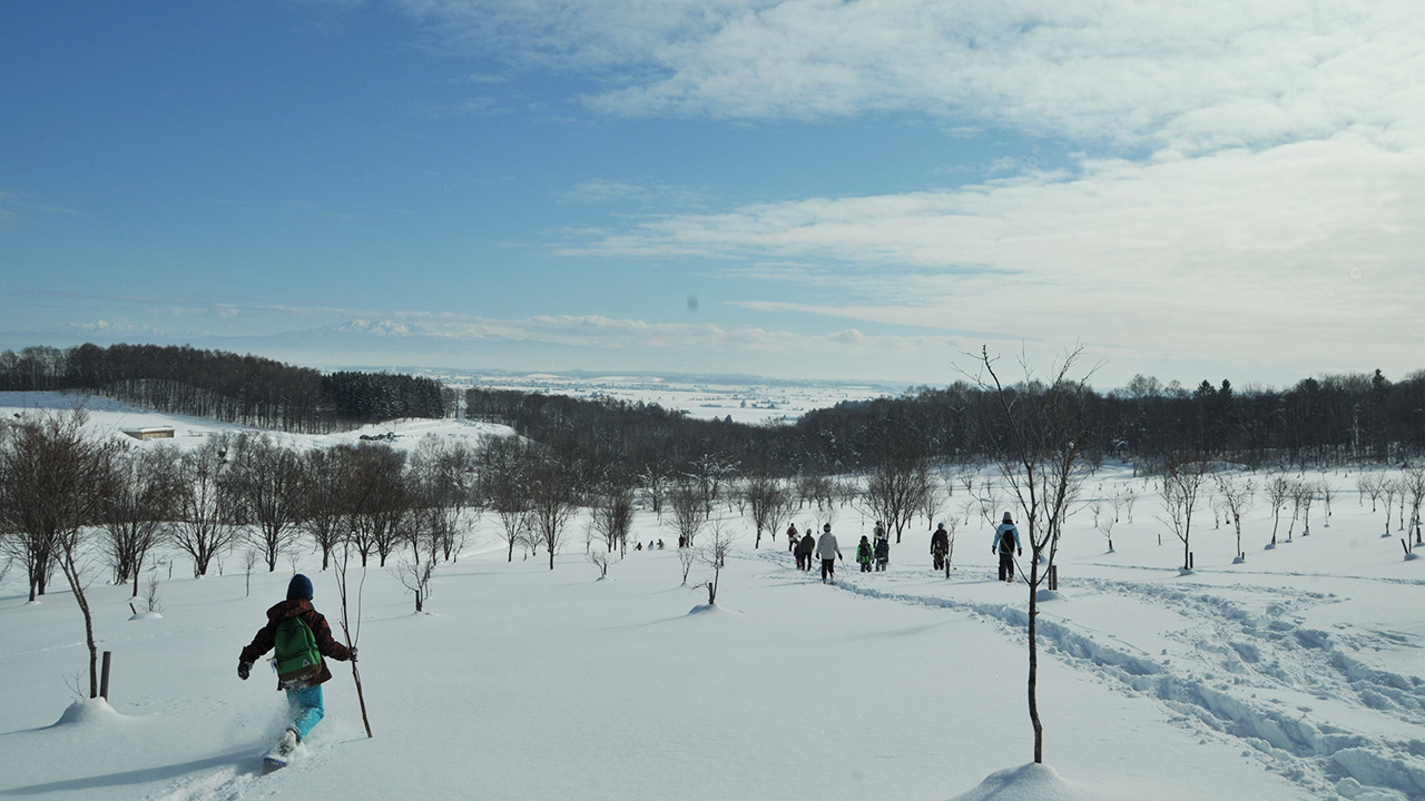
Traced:
<svg viewBox="0 0 1425 801">
<path fill-rule="evenodd" d="M 774 562 L 771 556 L 764 559 Z M 767 577 L 785 580 L 781 573 Z M 874 600 L 970 613 L 1005 624 L 1019 636 L 1029 624 L 1022 594 L 1020 603 L 1003 604 L 895 591 L 895 584 L 908 582 L 923 589 L 925 576 L 882 573 L 876 586 L 844 580 L 836 587 Z M 955 586 L 953 580 L 943 584 L 946 593 L 953 593 Z M 1190 623 L 1190 633 L 1177 637 L 1193 654 L 1187 660 L 1151 656 L 1104 631 L 1056 619 L 1052 601 L 1040 604 L 1037 629 L 1045 653 L 1161 703 L 1180 725 L 1241 744 L 1267 768 L 1312 795 L 1355 797 L 1374 791 L 1372 798 L 1425 798 L 1425 740 L 1409 734 L 1411 730 L 1425 734 L 1425 681 L 1364 664 L 1352 656 L 1349 636 L 1305 627 L 1297 613 L 1330 603 L 1331 596 L 1097 579 L 1063 587 L 1173 609 Z M 1247 596 L 1251 604 L 1217 591 Z M 1328 707 L 1328 714 L 1314 714 L 1318 706 Z M 1379 725 L 1358 724 L 1352 730 L 1332 720 L 1379 721 Z"/>
</svg>

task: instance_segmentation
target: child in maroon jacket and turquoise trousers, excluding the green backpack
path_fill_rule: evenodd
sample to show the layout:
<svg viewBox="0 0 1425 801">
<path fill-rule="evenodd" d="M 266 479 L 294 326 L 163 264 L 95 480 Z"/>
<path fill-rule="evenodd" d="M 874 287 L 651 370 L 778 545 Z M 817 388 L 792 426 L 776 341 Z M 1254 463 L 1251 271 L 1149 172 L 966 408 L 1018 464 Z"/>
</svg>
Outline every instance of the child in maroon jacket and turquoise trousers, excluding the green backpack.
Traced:
<svg viewBox="0 0 1425 801">
<path fill-rule="evenodd" d="M 278 626 L 291 617 L 301 617 L 306 623 L 316 640 L 316 650 L 323 657 L 356 661 L 356 648 L 349 648 L 333 640 L 326 617 L 312 607 L 312 580 L 298 573 L 286 586 L 286 600 L 268 610 L 266 626 L 258 630 L 248 647 L 242 648 L 242 656 L 238 657 L 238 678 L 248 680 L 252 664 L 276 644 Z M 282 733 L 282 740 L 278 741 L 276 751 L 279 754 L 289 754 L 326 714 L 322 706 L 322 683 L 331 677 L 332 671 L 323 658 L 321 670 L 315 676 L 289 681 L 278 680 L 278 690 L 286 690 L 286 701 L 292 708 L 292 725 Z"/>
</svg>

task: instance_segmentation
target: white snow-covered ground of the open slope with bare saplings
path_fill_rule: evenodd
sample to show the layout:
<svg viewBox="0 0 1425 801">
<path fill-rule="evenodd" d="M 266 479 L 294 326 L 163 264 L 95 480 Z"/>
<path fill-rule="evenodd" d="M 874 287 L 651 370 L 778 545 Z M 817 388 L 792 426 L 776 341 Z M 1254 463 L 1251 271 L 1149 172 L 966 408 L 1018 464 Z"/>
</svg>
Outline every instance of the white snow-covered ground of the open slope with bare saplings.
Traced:
<svg viewBox="0 0 1425 801">
<path fill-rule="evenodd" d="M 0 413 L 36 402 L 56 403 L 3 396 Z M 180 442 L 219 428 L 160 418 L 104 406 L 94 425 L 175 425 Z M 496 433 L 395 429 L 410 445 Z M 162 616 L 137 620 L 128 589 L 97 572 L 90 601 L 113 688 L 108 706 L 76 707 L 66 684 L 87 664 L 80 613 L 63 579 L 27 604 L 11 570 L 0 797 L 1425 798 L 1425 560 L 1404 559 L 1396 523 L 1382 536 L 1385 515 L 1358 500 L 1357 475 L 1305 477 L 1338 489 L 1310 536 L 1298 524 L 1285 542 L 1284 520 L 1281 544 L 1264 550 L 1273 522 L 1258 493 L 1234 564 L 1234 536 L 1204 503 L 1186 576 L 1151 486 L 1123 467 L 1090 479 L 1087 499 L 1127 486 L 1140 499 L 1112 553 L 1087 507 L 1067 524 L 1060 593 L 1040 606 L 1043 768 L 1026 765 L 1027 589 L 995 580 L 988 524 L 960 526 L 949 579 L 931 570 L 921 520 L 886 573 L 862 574 L 851 559 L 869 522 L 848 506 L 832 522 L 846 556 L 835 586 L 795 570 L 781 534 L 752 549 L 750 524 L 734 520 L 747 536 L 714 610 L 681 586 L 677 534 L 651 513 L 636 536 L 670 547 L 630 552 L 607 580 L 584 559 L 583 519 L 553 572 L 543 559 L 506 563 L 496 520 L 479 520 L 459 563 L 436 573 L 426 614 L 372 567 L 358 644 L 375 738 L 335 663 L 308 755 L 271 775 L 258 763 L 285 725 L 282 694 L 261 664 L 239 681 L 237 657 L 282 599 L 285 566 L 255 573 L 248 596 L 238 556 L 201 580 L 175 559 L 157 569 Z M 956 487 L 945 515 L 962 500 Z M 819 527 L 815 510 L 795 520 Z M 335 621 L 335 580 L 308 554 L 299 567 Z M 708 573 L 695 566 L 688 583 Z"/>
</svg>

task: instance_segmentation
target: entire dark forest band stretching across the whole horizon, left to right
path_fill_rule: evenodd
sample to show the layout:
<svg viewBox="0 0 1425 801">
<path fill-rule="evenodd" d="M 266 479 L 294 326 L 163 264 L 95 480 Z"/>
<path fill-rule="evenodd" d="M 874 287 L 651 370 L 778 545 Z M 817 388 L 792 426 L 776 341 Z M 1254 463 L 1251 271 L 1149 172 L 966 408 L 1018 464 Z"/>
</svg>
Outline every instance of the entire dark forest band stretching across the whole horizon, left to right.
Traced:
<svg viewBox="0 0 1425 801">
<path fill-rule="evenodd" d="M 429 378 L 321 373 L 252 355 L 157 345 L 80 345 L 0 352 L 0 389 L 77 389 L 172 413 L 322 433 L 395 418 L 452 413 L 453 393 Z M 1040 389 L 1020 383 L 1010 393 Z M 1083 395 L 1090 459 L 1156 462 L 1180 453 L 1247 466 L 1398 463 L 1425 452 L 1425 371 L 1307 378 L 1287 389 L 1194 389 L 1134 376 Z M 792 423 L 694 419 L 657 403 L 475 388 L 467 413 L 507 423 L 600 475 L 707 470 L 846 473 L 893 450 L 932 462 L 999 453 L 1005 422 L 993 392 L 962 381 L 896 398 L 846 400 Z"/>
</svg>

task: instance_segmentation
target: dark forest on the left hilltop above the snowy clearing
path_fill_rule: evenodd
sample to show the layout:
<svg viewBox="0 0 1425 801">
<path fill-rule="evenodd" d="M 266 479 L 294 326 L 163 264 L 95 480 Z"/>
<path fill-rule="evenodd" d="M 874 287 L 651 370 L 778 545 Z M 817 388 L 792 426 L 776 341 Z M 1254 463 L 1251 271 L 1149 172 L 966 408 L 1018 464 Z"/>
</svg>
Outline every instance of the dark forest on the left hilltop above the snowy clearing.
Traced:
<svg viewBox="0 0 1425 801">
<path fill-rule="evenodd" d="M 296 433 L 396 418 L 442 418 L 439 382 L 393 373 L 323 375 L 252 355 L 160 345 L 0 352 L 0 391 L 83 391 L 160 412 Z"/>
</svg>

